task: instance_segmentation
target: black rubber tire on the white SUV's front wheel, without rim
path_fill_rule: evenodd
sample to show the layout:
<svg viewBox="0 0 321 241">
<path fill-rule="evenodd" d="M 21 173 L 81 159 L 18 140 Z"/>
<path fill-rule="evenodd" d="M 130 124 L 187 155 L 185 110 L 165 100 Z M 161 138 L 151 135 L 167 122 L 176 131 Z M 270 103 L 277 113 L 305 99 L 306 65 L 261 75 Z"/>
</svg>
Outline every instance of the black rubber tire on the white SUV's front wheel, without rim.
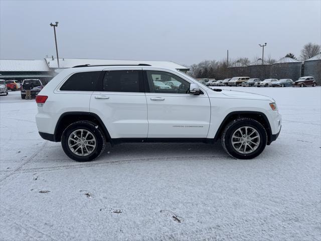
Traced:
<svg viewBox="0 0 321 241">
<path fill-rule="evenodd" d="M 241 154 L 239 152 L 237 152 L 233 145 L 232 145 L 232 135 L 233 133 L 241 128 L 241 127 L 251 127 L 253 129 L 255 129 L 259 136 L 260 136 L 260 142 L 259 145 L 257 147 L 257 149 L 255 151 L 253 151 L 252 153 L 248 153 L 248 154 Z M 237 118 L 234 119 L 232 122 L 230 122 L 224 129 L 222 137 L 221 137 L 221 141 L 222 141 L 222 146 L 224 148 L 224 150 L 231 156 L 237 159 L 252 159 L 257 157 L 258 155 L 260 155 L 267 143 L 267 134 L 266 131 L 264 129 L 264 127 L 257 121 L 255 121 L 255 119 L 252 118 L 247 118 L 247 117 L 241 117 L 241 118 Z"/>
</svg>

